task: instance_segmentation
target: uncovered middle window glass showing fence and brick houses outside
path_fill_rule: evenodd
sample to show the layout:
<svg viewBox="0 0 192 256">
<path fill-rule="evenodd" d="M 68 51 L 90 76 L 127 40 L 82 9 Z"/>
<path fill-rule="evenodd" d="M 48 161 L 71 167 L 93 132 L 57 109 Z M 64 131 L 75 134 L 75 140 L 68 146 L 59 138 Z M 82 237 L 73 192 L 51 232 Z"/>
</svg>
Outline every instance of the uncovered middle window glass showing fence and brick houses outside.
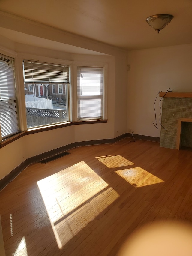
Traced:
<svg viewBox="0 0 192 256">
<path fill-rule="evenodd" d="M 62 86 L 66 88 L 67 84 Z M 67 95 L 59 94 L 56 88 L 55 84 L 35 83 L 32 92 L 25 90 L 28 128 L 68 121 Z"/>
</svg>

